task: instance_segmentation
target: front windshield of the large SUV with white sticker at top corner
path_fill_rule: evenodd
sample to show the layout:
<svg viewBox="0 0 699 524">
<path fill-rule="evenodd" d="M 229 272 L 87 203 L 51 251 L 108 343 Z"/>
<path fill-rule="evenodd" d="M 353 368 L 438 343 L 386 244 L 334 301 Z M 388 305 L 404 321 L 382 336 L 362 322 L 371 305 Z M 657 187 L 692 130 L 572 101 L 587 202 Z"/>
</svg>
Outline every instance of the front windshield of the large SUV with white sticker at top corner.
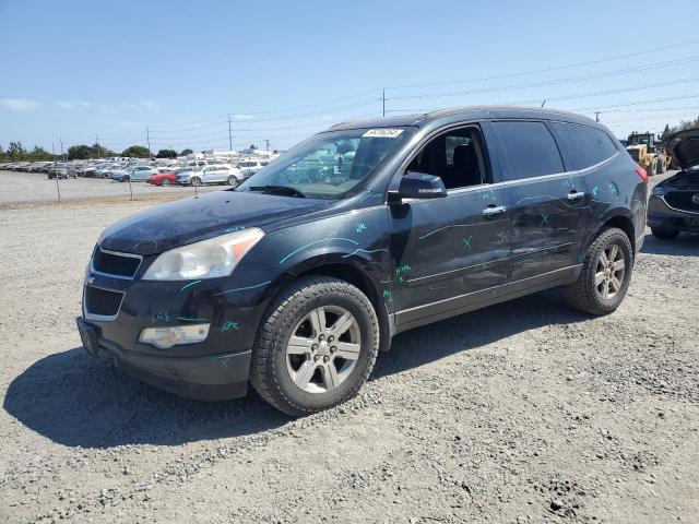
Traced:
<svg viewBox="0 0 699 524">
<path fill-rule="evenodd" d="M 370 177 L 413 128 L 352 129 L 319 133 L 289 150 L 236 191 L 287 186 L 318 199 L 341 199 Z"/>
</svg>

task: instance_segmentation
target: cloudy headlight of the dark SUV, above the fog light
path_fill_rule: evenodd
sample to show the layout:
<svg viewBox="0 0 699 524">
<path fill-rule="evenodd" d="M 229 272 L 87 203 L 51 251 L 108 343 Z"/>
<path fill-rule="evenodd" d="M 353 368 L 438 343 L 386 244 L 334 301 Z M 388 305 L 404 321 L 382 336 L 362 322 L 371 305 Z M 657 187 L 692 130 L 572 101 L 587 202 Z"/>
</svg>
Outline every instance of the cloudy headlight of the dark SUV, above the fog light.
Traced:
<svg viewBox="0 0 699 524">
<path fill-rule="evenodd" d="M 257 227 L 210 238 L 162 253 L 144 281 L 190 281 L 228 276 L 264 231 Z"/>
</svg>

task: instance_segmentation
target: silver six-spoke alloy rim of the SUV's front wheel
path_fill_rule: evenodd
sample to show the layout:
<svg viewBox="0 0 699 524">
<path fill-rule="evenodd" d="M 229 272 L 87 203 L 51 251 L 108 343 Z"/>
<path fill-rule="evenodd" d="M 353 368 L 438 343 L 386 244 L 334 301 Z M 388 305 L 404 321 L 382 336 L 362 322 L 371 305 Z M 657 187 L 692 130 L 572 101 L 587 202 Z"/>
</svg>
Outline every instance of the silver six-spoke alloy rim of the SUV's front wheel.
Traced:
<svg viewBox="0 0 699 524">
<path fill-rule="evenodd" d="M 307 393 L 327 393 L 352 374 L 362 352 L 354 315 L 340 306 L 321 306 L 304 317 L 286 345 L 286 369 Z"/>
</svg>

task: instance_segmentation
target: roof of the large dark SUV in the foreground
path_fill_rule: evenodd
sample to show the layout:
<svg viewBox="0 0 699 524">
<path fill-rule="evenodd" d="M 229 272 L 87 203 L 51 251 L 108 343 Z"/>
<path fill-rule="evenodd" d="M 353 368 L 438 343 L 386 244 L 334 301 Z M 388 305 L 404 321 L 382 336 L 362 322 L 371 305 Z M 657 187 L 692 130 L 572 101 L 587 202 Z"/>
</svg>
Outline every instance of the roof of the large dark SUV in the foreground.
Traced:
<svg viewBox="0 0 699 524">
<path fill-rule="evenodd" d="M 599 126 L 594 120 L 581 115 L 558 109 L 537 109 L 516 106 L 466 106 L 453 109 L 439 109 L 431 112 L 416 115 L 400 115 L 394 117 L 363 118 L 347 120 L 328 129 L 337 131 L 356 128 L 390 128 L 402 126 L 424 127 L 431 122 L 448 123 L 451 121 L 489 118 L 521 118 L 521 119 L 553 119 L 570 122 Z"/>
</svg>

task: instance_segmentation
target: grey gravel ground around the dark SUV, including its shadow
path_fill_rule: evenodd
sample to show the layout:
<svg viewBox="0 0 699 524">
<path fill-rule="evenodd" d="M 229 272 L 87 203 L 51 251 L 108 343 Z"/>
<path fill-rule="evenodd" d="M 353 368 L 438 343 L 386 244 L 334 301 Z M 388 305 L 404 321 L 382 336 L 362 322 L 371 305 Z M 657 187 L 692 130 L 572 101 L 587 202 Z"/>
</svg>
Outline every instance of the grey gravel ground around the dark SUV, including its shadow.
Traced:
<svg viewBox="0 0 699 524">
<path fill-rule="evenodd" d="M 404 333 L 291 420 L 80 348 L 90 250 L 145 205 L 0 210 L 0 522 L 699 522 L 699 239 L 648 236 L 609 317 L 547 293 Z"/>
</svg>

